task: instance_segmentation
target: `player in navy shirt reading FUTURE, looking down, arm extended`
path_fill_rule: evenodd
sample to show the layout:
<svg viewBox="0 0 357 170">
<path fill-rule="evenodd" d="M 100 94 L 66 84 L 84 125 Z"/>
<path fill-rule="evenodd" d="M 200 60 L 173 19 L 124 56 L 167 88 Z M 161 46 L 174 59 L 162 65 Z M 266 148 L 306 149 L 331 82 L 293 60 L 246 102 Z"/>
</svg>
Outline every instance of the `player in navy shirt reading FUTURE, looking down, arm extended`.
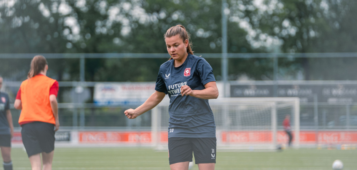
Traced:
<svg viewBox="0 0 357 170">
<path fill-rule="evenodd" d="M 216 125 L 208 99 L 218 97 L 212 67 L 193 55 L 185 27 L 169 28 L 164 35 L 171 58 L 160 66 L 155 92 L 135 110 L 124 113 L 129 119 L 151 110 L 165 95 L 169 105 L 169 163 L 171 170 L 187 170 L 192 161 L 200 170 L 213 170 L 216 163 Z"/>
</svg>

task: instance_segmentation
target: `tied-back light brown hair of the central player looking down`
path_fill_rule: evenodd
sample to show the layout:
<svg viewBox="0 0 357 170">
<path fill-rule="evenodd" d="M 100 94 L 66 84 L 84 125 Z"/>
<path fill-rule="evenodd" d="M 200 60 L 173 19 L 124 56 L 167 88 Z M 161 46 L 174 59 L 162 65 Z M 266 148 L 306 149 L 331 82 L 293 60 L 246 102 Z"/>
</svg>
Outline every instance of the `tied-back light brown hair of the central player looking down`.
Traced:
<svg viewBox="0 0 357 170">
<path fill-rule="evenodd" d="M 187 39 L 188 41 L 188 46 L 186 48 L 187 50 L 187 53 L 190 53 L 190 54 L 193 54 L 193 51 L 192 51 L 192 43 L 190 42 L 190 34 L 186 31 L 186 28 L 182 25 L 176 25 L 176 26 L 173 26 L 171 28 L 169 28 L 166 33 L 164 34 L 164 39 L 167 38 L 170 38 L 172 36 L 176 36 L 176 35 L 180 35 L 180 38 L 182 38 L 182 41 L 185 42 L 185 40 Z M 171 60 L 172 57 L 169 59 Z"/>
</svg>

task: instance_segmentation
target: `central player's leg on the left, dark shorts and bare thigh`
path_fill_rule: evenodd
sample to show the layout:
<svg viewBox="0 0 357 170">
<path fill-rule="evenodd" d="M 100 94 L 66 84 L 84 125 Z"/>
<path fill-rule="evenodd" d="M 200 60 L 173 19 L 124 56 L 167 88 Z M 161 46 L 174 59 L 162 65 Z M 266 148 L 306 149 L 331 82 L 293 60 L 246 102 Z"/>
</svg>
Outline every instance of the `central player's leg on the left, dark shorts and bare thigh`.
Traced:
<svg viewBox="0 0 357 170">
<path fill-rule="evenodd" d="M 169 163 L 171 170 L 188 170 L 192 161 L 191 138 L 169 138 Z"/>
</svg>

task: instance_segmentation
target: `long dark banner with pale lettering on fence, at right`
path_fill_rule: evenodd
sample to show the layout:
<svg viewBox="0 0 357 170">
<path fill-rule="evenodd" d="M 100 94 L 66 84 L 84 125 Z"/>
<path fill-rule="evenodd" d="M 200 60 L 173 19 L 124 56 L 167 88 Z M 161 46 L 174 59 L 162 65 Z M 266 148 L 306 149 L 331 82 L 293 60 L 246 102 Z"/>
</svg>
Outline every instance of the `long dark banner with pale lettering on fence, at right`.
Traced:
<svg viewBox="0 0 357 170">
<path fill-rule="evenodd" d="M 331 104 L 357 102 L 357 85 L 231 85 L 230 92 L 231 97 L 300 97 L 301 102 L 313 102 L 317 97 L 318 102 Z"/>
</svg>

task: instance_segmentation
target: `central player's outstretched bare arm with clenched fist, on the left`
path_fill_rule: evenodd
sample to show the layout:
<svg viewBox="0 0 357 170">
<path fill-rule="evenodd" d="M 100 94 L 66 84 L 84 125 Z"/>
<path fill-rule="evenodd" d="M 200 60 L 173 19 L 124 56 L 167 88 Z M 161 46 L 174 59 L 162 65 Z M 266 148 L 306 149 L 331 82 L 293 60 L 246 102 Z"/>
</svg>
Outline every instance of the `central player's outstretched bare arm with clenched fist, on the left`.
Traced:
<svg viewBox="0 0 357 170">
<path fill-rule="evenodd" d="M 141 106 L 137 107 L 135 110 L 130 108 L 124 111 L 124 114 L 129 119 L 135 119 L 158 105 L 162 99 L 164 99 L 165 95 L 166 94 L 163 92 L 155 91 Z"/>
</svg>

